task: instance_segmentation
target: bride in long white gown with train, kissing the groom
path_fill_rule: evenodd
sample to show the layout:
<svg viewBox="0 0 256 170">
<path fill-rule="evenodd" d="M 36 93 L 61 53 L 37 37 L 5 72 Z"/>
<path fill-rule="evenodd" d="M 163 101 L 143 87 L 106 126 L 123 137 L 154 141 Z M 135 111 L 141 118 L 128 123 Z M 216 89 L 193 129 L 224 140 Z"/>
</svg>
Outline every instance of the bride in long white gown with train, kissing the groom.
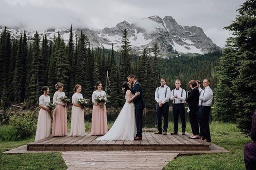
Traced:
<svg viewBox="0 0 256 170">
<path fill-rule="evenodd" d="M 133 96 L 129 82 L 123 82 L 122 86 L 126 100 L 125 105 L 109 132 L 96 140 L 134 140 L 135 138 L 136 121 L 133 99 L 139 95 L 139 92 L 136 92 Z"/>
</svg>

